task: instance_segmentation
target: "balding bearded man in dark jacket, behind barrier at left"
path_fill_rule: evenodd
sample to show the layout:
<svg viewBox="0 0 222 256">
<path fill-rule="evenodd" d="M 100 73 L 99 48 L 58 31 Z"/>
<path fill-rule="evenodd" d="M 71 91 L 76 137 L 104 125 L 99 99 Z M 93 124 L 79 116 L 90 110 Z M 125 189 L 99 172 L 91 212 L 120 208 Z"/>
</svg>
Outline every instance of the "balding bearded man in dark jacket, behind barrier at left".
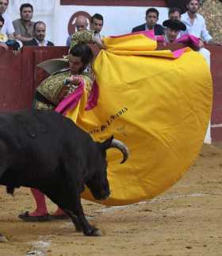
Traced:
<svg viewBox="0 0 222 256">
<path fill-rule="evenodd" d="M 45 40 L 46 25 L 43 21 L 37 21 L 34 24 L 34 38 L 31 41 L 25 41 L 25 46 L 54 46 L 51 41 Z"/>
</svg>

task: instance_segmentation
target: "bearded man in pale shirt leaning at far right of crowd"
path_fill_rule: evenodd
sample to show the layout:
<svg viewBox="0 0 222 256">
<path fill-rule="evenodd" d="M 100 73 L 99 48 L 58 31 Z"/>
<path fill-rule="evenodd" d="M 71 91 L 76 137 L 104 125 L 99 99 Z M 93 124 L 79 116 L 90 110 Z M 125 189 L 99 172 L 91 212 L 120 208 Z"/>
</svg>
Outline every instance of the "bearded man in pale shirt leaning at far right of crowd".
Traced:
<svg viewBox="0 0 222 256">
<path fill-rule="evenodd" d="M 188 0 L 186 7 L 186 13 L 182 14 L 182 22 L 186 25 L 186 33 L 200 38 L 203 42 L 212 41 L 212 37 L 206 29 L 205 18 L 201 14 L 197 14 L 200 8 L 199 1 Z M 201 47 L 203 46 L 204 44 L 201 45 Z"/>
</svg>

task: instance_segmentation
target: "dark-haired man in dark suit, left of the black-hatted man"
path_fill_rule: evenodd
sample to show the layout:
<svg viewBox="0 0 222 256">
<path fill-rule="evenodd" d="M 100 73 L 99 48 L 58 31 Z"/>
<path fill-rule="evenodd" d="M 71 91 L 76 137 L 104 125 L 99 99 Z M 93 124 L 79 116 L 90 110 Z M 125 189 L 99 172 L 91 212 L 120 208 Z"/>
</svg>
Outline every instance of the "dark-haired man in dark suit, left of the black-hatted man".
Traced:
<svg viewBox="0 0 222 256">
<path fill-rule="evenodd" d="M 132 29 L 132 32 L 144 31 L 144 30 L 152 30 L 154 29 L 155 36 L 163 35 L 163 27 L 162 25 L 156 24 L 159 19 L 159 11 L 155 8 L 150 8 L 146 11 L 146 23 L 143 25 L 138 25 L 137 27 Z"/>
</svg>

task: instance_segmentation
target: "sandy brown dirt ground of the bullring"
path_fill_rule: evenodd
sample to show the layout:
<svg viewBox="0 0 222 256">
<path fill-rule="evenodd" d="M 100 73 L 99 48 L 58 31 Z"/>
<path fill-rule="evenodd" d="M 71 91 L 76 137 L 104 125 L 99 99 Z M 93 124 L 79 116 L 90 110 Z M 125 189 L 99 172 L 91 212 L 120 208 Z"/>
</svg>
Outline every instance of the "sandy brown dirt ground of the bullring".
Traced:
<svg viewBox="0 0 222 256">
<path fill-rule="evenodd" d="M 101 237 L 76 233 L 69 220 L 22 222 L 17 215 L 33 208 L 29 189 L 17 189 L 12 197 L 2 187 L 0 230 L 10 242 L 0 243 L 0 255 L 222 255 L 221 196 L 221 145 L 204 145 L 182 180 L 154 200 L 118 208 L 84 201 Z"/>
</svg>

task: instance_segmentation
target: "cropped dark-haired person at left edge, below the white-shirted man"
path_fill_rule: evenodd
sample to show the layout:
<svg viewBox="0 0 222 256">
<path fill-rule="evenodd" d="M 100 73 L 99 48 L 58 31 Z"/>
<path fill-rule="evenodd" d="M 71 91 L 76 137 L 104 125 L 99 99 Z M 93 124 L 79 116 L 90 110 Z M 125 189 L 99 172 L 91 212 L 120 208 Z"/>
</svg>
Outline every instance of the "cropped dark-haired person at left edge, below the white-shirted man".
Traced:
<svg viewBox="0 0 222 256">
<path fill-rule="evenodd" d="M 20 50 L 20 45 L 17 41 L 9 39 L 5 33 L 2 33 L 4 22 L 4 18 L 0 15 L 0 47 L 5 50 L 8 50 L 11 47 L 13 49 L 13 53 L 17 54 Z"/>
</svg>

